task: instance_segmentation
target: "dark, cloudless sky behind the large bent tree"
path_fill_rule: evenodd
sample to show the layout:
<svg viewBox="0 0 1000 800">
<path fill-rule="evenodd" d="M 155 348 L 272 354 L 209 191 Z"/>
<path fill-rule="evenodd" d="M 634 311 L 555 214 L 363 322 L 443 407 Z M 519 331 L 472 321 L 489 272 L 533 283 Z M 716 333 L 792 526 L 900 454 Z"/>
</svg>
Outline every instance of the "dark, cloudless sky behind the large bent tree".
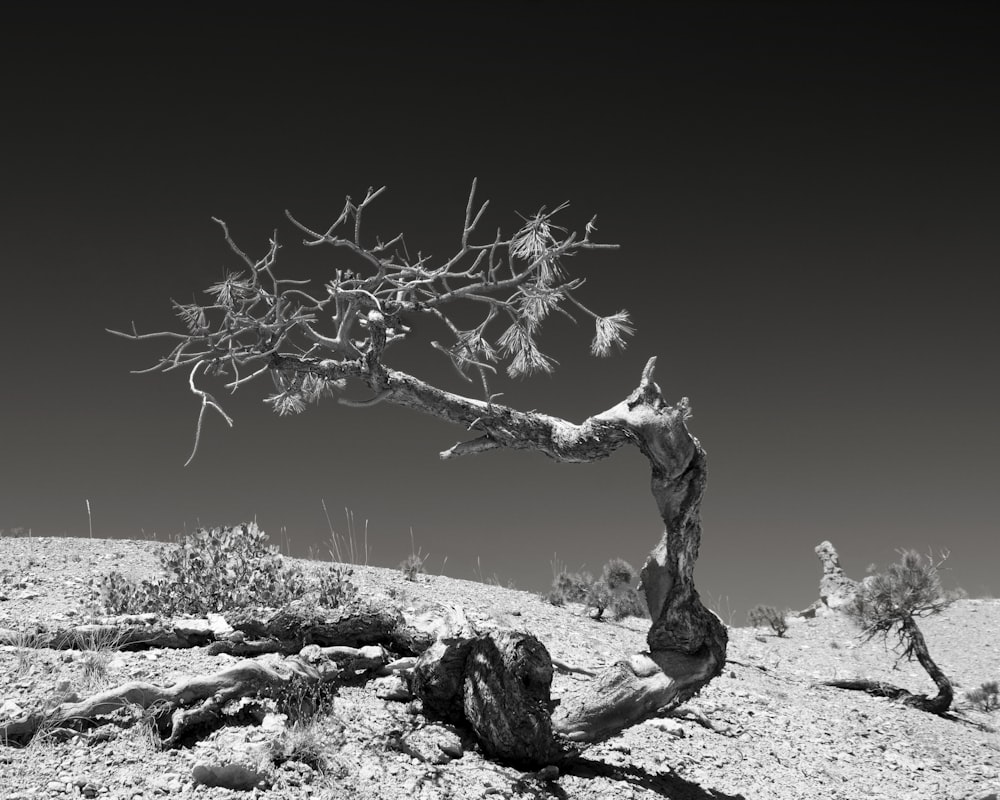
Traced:
<svg viewBox="0 0 1000 800">
<path fill-rule="evenodd" d="M 659 533 L 634 450 L 591 465 L 524 452 L 440 461 L 463 430 L 385 405 L 279 418 L 264 385 L 206 419 L 186 376 L 129 374 L 254 256 L 317 278 L 290 209 L 329 224 L 388 191 L 371 236 L 457 247 L 570 201 L 614 253 L 571 264 L 638 333 L 612 359 L 547 324 L 552 377 L 498 386 L 580 421 L 659 357 L 709 454 L 699 587 L 742 622 L 816 596 L 813 547 L 850 574 L 950 548 L 947 585 L 1000 590 L 1000 91 L 976 4 L 367 2 L 36 8 L 3 28 L 0 528 L 167 538 L 256 516 L 293 554 L 369 521 L 372 563 L 413 540 L 432 572 L 541 590 L 555 554 L 640 565 Z M 405 9 L 405 10 L 402 10 Z M 312 256 L 307 258 L 306 256 Z M 312 270 L 312 272 L 310 272 Z M 204 297 L 204 295 L 200 295 Z M 421 342 L 440 331 L 418 320 Z M 420 338 L 426 336 L 426 338 Z M 434 350 L 390 364 L 463 390 Z M 445 557 L 447 563 L 443 564 Z"/>
</svg>

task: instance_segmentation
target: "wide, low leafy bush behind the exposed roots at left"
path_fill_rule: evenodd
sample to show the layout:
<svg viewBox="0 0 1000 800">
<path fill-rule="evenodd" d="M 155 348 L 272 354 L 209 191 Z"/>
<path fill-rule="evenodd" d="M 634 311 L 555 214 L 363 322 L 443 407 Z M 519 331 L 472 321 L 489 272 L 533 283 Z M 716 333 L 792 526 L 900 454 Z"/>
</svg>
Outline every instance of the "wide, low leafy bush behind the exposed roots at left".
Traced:
<svg viewBox="0 0 1000 800">
<path fill-rule="evenodd" d="M 119 572 L 91 579 L 91 596 L 111 614 L 155 612 L 204 615 L 233 608 L 280 608 L 307 594 L 334 607 L 353 595 L 350 572 L 331 568 L 320 577 L 318 592 L 302 570 L 288 566 L 278 548 L 255 523 L 201 528 L 160 552 L 165 577 L 132 580 Z"/>
</svg>

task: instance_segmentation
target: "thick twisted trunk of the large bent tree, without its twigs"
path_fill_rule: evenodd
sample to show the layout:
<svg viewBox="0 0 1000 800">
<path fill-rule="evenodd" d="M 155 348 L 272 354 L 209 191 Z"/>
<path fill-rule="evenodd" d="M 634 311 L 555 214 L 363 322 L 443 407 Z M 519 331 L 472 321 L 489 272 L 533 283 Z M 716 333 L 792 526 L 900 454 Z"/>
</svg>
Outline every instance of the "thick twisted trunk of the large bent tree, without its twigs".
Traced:
<svg viewBox="0 0 1000 800">
<path fill-rule="evenodd" d="M 638 388 L 625 400 L 577 425 L 558 417 L 517 411 L 445 392 L 376 360 L 365 365 L 355 362 L 345 369 L 343 362 L 289 356 L 272 359 L 273 368 L 279 370 L 331 379 L 350 373 L 368 384 L 377 402 L 413 408 L 482 433 L 477 439 L 460 442 L 444 451 L 442 458 L 506 447 L 537 450 L 556 461 L 589 462 L 611 455 L 622 445 L 634 444 L 649 459 L 653 497 L 664 524 L 660 542 L 641 574 L 642 589 L 653 618 L 647 636 L 649 651 L 619 661 L 588 686 L 562 698 L 552 715 L 551 731 L 546 725 L 534 725 L 535 761 L 539 764 L 550 763 L 557 752 L 573 750 L 569 742 L 606 739 L 664 707 L 683 702 L 718 675 L 725 664 L 726 628 L 701 603 L 693 577 L 701 542 L 705 452 L 688 431 L 687 398 L 675 406 L 663 399 L 660 387 L 653 382 L 655 364 L 656 359 L 651 358 Z M 512 723 L 526 713 L 532 719 L 537 718 L 537 702 L 534 709 L 527 711 L 515 708 L 516 699 L 498 698 L 495 688 L 483 683 L 487 671 L 468 666 L 473 649 L 455 644 L 437 653 L 438 657 L 443 656 L 439 660 L 447 668 L 434 661 L 422 665 L 427 677 L 423 682 L 417 681 L 417 693 L 420 694 L 421 687 L 434 687 L 433 695 L 428 694 L 428 705 L 452 712 L 462 708 L 456 694 L 461 692 L 465 698 L 485 698 L 476 712 L 481 716 L 510 716 Z M 496 652 L 499 655 L 491 660 L 494 675 L 497 670 L 521 669 L 504 656 L 503 647 Z M 434 653 L 429 651 L 427 659 L 433 657 Z M 418 672 L 420 667 L 418 664 Z M 535 670 L 532 674 L 537 673 Z M 496 680 L 502 684 L 504 679 L 501 676 Z M 442 686 L 447 687 L 443 694 Z M 468 709 L 465 713 L 468 714 Z M 512 725 L 486 727 L 488 730 L 484 728 L 481 738 L 484 735 L 489 738 L 490 730 L 507 730 Z M 562 744 L 554 746 L 547 741 L 553 735 Z M 512 744 L 509 737 L 497 734 L 484 746 L 501 759 L 521 764 L 531 761 L 526 756 L 529 748 L 522 740 Z"/>
</svg>

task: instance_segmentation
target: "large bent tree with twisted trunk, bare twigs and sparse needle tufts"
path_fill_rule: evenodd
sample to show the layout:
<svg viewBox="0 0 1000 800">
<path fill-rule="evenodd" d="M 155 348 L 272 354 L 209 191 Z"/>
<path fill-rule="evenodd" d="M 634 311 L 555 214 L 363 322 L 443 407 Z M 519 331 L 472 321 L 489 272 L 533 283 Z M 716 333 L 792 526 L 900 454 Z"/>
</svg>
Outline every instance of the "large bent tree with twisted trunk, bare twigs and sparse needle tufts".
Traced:
<svg viewBox="0 0 1000 800">
<path fill-rule="evenodd" d="M 265 255 L 255 260 L 216 220 L 242 267 L 209 287 L 212 302 L 175 303 L 186 328 L 180 332 L 139 333 L 133 324 L 131 333 L 112 333 L 175 341 L 167 355 L 144 371 L 187 371 L 201 403 L 192 458 L 206 409 L 215 409 L 231 424 L 215 396 L 199 385 L 203 375 L 223 376 L 230 391 L 270 375 L 274 391 L 266 400 L 279 414 L 299 413 L 325 396 L 336 396 L 347 381 L 358 382 L 370 397 L 340 397 L 341 403 L 394 403 L 476 432 L 475 438 L 443 451 L 442 458 L 512 448 L 535 450 L 556 461 L 588 462 L 623 445 L 638 447 L 650 462 L 653 496 L 665 525 L 641 574 L 653 619 L 649 652 L 620 661 L 578 695 L 563 698 L 551 720 L 552 732 L 563 740 L 596 741 L 682 702 L 725 663 L 725 626 L 701 603 L 693 579 L 705 452 L 688 430 L 687 398 L 670 405 L 653 381 L 655 358 L 649 359 L 631 394 L 579 424 L 494 402 L 498 395 L 491 392 L 491 381 L 498 369 L 505 368 L 510 377 L 554 369 L 538 344 L 541 326 L 551 315 L 589 317 L 594 324 L 590 349 L 597 356 L 623 346 L 632 326 L 626 311 L 601 315 L 577 297 L 584 281 L 572 277 L 567 260 L 615 247 L 592 239 L 594 219 L 580 235 L 556 224 L 565 206 L 542 208 L 523 218 L 512 236 L 498 230 L 491 239 L 475 241 L 488 205 L 477 207 L 475 189 L 473 182 L 457 250 L 438 261 L 419 252 L 411 255 L 401 234 L 386 241 L 363 237 L 363 216 L 383 189 L 369 189 L 361 202 L 348 197 L 325 230 L 288 214 L 305 234 L 305 246 L 333 247 L 353 256 L 351 267 L 334 269 L 318 292 L 308 280 L 279 277 L 277 233 Z M 463 310 L 456 314 L 459 308 Z M 459 324 L 475 308 L 481 310 L 477 323 Z M 420 318 L 436 320 L 448 334 L 446 344 L 430 341 L 430 346 L 477 387 L 473 393 L 479 397 L 445 391 L 389 366 L 389 348 L 411 336 Z M 506 652 L 503 647 L 500 651 Z M 540 734 L 545 735 L 547 729 Z"/>
</svg>

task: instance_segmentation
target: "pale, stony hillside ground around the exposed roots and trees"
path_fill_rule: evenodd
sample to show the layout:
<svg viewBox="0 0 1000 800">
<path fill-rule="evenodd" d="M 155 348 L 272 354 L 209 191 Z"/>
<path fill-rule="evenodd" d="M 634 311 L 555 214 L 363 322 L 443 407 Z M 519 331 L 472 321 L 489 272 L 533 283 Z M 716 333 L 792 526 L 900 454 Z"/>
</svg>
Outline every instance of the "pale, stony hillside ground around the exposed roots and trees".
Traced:
<svg viewBox="0 0 1000 800">
<path fill-rule="evenodd" d="M 157 571 L 157 545 L 123 540 L 0 538 L 0 628 L 24 632 L 0 647 L 0 725 L 75 692 L 143 680 L 169 684 L 238 661 L 204 648 L 116 652 L 31 646 L 41 625 L 82 619 L 87 582 L 116 569 Z M 312 562 L 302 562 L 314 568 Z M 552 656 L 597 670 L 644 647 L 646 623 L 595 622 L 582 608 L 556 608 L 498 586 L 357 567 L 361 591 L 404 607 L 461 605 L 482 629 L 538 636 Z M 137 726 L 103 741 L 36 737 L 26 748 L 0 742 L 0 798 L 824 798 L 824 800 L 983 800 L 1000 797 L 1000 712 L 967 707 L 964 691 L 1000 679 L 1000 601 L 962 600 L 921 623 L 932 656 L 954 680 L 959 702 L 947 719 L 894 702 L 816 686 L 869 677 L 933 693 L 916 664 L 894 668 L 891 651 L 862 644 L 839 616 L 793 622 L 784 638 L 733 628 L 725 673 L 688 703 L 683 718 L 657 719 L 591 748 L 568 774 L 523 773 L 492 763 L 460 731 L 430 725 L 411 704 L 382 699 L 364 683 L 338 689 L 302 736 L 301 750 L 274 770 L 272 788 L 236 792 L 195 781 L 226 736 L 250 742 L 266 731 L 224 731 L 190 748 L 163 750 Z M 276 656 L 262 658 L 276 659 Z M 553 696 L 580 673 L 557 672 Z M 384 693 L 384 692 L 383 692 Z M 101 738 L 101 737 L 96 737 Z M 252 751 L 251 751 L 252 752 Z M 313 766 L 309 763 L 313 762 Z M 322 763 L 320 763 L 322 762 Z M 321 767 L 321 768 L 317 768 Z"/>
</svg>

